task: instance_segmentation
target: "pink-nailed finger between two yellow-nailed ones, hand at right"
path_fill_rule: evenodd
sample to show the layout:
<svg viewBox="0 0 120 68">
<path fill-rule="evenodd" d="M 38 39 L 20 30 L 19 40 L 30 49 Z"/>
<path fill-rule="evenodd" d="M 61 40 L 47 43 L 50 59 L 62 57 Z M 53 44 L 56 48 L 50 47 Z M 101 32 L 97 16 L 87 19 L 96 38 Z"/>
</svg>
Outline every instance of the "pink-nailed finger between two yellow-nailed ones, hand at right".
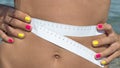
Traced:
<svg viewBox="0 0 120 68">
<path fill-rule="evenodd" d="M 97 53 L 95 55 L 95 58 L 96 59 L 100 59 L 100 58 L 103 58 L 103 57 L 107 57 L 107 56 L 113 54 L 118 49 L 120 49 L 120 45 L 119 45 L 119 43 L 116 42 L 116 43 L 112 44 L 109 48 L 104 50 L 103 52 Z"/>
</svg>

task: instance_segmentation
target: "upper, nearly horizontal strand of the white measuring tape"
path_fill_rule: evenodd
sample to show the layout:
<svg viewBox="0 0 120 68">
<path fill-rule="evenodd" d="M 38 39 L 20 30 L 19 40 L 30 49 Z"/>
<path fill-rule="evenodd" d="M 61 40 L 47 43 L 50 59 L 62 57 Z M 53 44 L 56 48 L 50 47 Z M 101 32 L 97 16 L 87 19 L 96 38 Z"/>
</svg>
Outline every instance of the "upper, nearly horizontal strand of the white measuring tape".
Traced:
<svg viewBox="0 0 120 68">
<path fill-rule="evenodd" d="M 104 33 L 104 31 L 98 31 L 96 29 L 96 25 L 73 26 L 73 25 L 60 24 L 56 22 L 40 20 L 36 18 L 32 18 L 31 24 L 33 27 L 44 26 L 49 30 L 52 30 L 58 34 L 65 35 L 65 36 L 86 37 L 86 36 L 96 36 Z"/>
</svg>

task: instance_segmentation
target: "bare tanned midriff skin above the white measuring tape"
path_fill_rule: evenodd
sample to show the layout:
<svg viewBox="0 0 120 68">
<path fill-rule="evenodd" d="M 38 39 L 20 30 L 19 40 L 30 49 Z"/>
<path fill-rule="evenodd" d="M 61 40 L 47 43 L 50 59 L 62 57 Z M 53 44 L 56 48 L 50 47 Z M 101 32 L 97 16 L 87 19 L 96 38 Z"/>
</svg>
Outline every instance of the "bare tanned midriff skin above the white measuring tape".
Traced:
<svg viewBox="0 0 120 68">
<path fill-rule="evenodd" d="M 109 1 L 17 1 L 18 2 L 16 2 L 16 8 L 28 13 L 34 18 L 45 19 L 48 21 L 59 22 L 63 24 L 81 26 L 93 24 L 96 25 L 103 20 L 105 21 L 107 19 L 109 7 Z M 101 10 L 99 10 L 98 7 L 101 8 Z"/>
</svg>

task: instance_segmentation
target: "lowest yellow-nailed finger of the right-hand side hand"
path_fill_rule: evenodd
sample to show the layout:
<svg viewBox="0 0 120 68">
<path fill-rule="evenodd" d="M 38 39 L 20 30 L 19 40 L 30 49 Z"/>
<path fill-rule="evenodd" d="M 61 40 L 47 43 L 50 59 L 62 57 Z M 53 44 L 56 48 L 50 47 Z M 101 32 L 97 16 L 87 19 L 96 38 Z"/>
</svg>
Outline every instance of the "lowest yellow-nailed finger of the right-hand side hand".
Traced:
<svg viewBox="0 0 120 68">
<path fill-rule="evenodd" d="M 115 52 L 114 54 L 110 55 L 108 58 L 105 58 L 104 60 L 101 61 L 102 65 L 109 64 L 112 60 L 120 56 L 120 50 Z"/>
</svg>

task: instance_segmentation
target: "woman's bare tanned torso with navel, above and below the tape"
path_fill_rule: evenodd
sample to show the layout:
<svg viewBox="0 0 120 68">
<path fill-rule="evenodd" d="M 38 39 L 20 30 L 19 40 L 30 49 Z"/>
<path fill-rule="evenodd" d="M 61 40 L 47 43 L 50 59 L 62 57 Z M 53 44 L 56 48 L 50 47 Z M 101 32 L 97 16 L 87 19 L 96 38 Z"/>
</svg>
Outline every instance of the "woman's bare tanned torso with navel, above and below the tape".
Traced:
<svg viewBox="0 0 120 68">
<path fill-rule="evenodd" d="M 15 7 L 31 17 L 83 26 L 104 23 L 109 3 L 109 0 L 16 0 Z M 14 44 L 3 42 L 1 68 L 99 68 L 33 33 L 25 32 L 25 34 L 25 39 L 16 38 Z M 104 36 L 70 38 L 96 52 L 101 52 L 105 47 L 93 48 L 91 42 Z"/>
</svg>

